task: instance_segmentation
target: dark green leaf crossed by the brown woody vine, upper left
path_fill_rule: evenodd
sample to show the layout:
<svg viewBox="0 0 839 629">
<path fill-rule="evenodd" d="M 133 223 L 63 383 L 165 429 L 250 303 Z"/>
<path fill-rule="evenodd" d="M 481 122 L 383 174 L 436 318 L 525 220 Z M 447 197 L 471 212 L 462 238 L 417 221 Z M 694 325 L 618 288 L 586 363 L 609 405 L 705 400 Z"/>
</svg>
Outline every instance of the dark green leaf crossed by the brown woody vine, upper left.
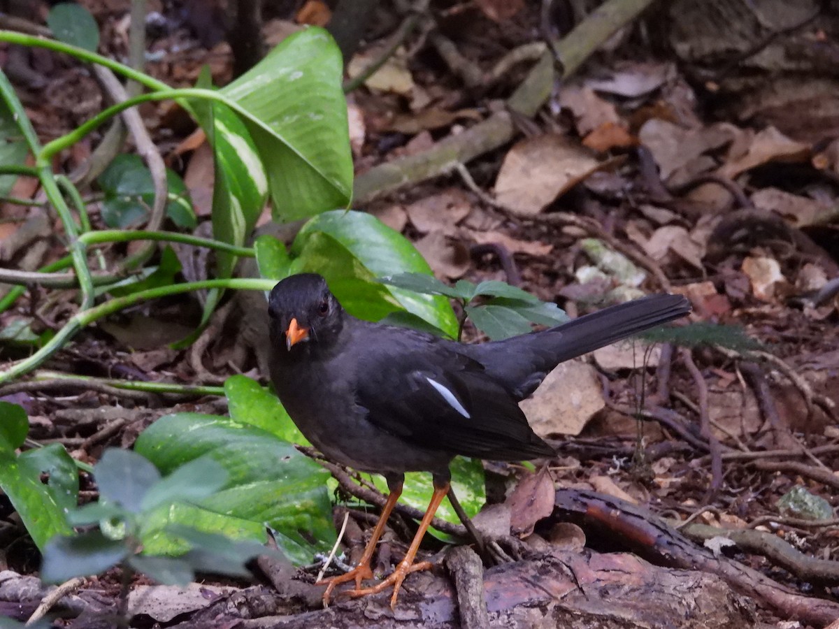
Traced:
<svg viewBox="0 0 839 629">
<path fill-rule="evenodd" d="M 107 226 L 126 229 L 148 218 L 149 207 L 154 203 L 154 182 L 139 155 L 117 155 L 96 182 L 105 193 L 102 220 Z M 179 227 L 195 229 L 198 221 L 183 179 L 166 169 L 166 185 L 166 216 Z"/>
</svg>

